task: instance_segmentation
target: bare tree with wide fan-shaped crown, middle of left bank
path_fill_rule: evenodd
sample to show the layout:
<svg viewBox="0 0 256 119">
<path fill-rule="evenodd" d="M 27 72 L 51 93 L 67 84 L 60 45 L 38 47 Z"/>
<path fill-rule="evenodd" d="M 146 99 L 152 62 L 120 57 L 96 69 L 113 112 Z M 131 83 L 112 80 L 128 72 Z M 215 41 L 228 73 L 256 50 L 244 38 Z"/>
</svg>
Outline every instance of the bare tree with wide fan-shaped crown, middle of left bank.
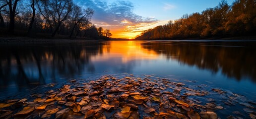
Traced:
<svg viewBox="0 0 256 119">
<path fill-rule="evenodd" d="M 37 5 L 51 29 L 54 29 L 52 33 L 54 37 L 72 10 L 73 2 L 71 0 L 38 0 Z"/>
</svg>

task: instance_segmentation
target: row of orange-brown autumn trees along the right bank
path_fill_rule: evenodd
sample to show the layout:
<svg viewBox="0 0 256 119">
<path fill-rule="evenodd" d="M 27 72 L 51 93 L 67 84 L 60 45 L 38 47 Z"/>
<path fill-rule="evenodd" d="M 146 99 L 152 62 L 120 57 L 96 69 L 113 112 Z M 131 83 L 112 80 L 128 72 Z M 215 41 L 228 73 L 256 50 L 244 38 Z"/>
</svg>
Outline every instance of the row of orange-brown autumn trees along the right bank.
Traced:
<svg viewBox="0 0 256 119">
<path fill-rule="evenodd" d="M 143 31 L 135 40 L 247 36 L 256 33 L 256 1 L 222 0 L 201 13 L 184 14 L 168 24 Z"/>
</svg>

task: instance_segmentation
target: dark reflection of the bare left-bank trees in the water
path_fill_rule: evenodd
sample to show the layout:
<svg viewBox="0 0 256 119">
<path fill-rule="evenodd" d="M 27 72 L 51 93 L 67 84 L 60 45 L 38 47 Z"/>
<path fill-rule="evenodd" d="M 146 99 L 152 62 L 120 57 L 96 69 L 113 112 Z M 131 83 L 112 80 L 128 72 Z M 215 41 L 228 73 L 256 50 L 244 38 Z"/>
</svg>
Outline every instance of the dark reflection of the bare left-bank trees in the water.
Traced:
<svg viewBox="0 0 256 119">
<path fill-rule="evenodd" d="M 45 84 L 45 79 L 94 71 L 91 56 L 103 53 L 106 43 L 31 44 L 0 46 L 0 86 L 15 82 L 18 88 Z"/>
</svg>

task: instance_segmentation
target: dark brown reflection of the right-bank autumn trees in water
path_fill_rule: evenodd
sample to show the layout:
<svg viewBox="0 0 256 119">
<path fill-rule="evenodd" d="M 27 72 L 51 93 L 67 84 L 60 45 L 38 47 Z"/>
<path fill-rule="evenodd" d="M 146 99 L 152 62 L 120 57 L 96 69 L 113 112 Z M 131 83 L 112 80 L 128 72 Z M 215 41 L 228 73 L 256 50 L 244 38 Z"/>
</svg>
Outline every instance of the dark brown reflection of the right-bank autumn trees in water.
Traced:
<svg viewBox="0 0 256 119">
<path fill-rule="evenodd" d="M 178 60 L 182 64 L 196 65 L 200 69 L 221 72 L 228 77 L 241 80 L 250 77 L 256 81 L 256 44 L 247 42 L 229 43 L 183 43 L 148 42 L 143 48 L 166 55 L 167 59 Z M 243 47 L 227 47 L 227 46 Z"/>
</svg>

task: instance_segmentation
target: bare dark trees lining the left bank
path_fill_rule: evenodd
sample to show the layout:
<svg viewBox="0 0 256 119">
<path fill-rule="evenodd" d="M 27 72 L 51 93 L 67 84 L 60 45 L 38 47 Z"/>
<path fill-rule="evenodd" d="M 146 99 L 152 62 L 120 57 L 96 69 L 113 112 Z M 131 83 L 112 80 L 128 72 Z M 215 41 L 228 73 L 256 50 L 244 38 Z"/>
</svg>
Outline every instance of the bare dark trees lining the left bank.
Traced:
<svg viewBox="0 0 256 119">
<path fill-rule="evenodd" d="M 0 0 L 0 31 L 27 36 L 111 37 L 110 30 L 90 22 L 93 14 L 93 9 L 73 0 Z"/>
</svg>

